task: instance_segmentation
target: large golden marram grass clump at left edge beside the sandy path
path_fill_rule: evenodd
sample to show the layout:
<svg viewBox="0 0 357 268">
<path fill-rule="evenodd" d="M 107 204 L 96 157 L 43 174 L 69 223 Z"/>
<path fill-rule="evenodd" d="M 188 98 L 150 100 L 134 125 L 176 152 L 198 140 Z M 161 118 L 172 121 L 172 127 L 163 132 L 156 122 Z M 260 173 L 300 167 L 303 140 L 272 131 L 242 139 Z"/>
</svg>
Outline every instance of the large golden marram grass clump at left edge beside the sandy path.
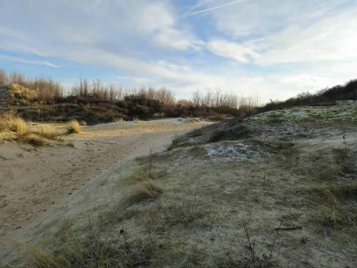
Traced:
<svg viewBox="0 0 357 268">
<path fill-rule="evenodd" d="M 0 133 L 9 140 L 16 140 L 36 146 L 45 145 L 48 140 L 60 140 L 60 133 L 54 128 L 43 126 L 35 129 L 15 115 L 3 114 L 0 116 Z"/>
</svg>

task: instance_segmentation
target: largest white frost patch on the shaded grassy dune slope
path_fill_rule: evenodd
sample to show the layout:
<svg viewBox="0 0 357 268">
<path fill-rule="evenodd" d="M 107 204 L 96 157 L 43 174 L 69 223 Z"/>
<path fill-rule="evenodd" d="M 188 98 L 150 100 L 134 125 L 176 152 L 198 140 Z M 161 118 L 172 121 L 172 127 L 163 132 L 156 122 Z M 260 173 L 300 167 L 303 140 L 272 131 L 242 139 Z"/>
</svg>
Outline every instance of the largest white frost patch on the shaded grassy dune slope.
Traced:
<svg viewBox="0 0 357 268">
<path fill-rule="evenodd" d="M 261 159 L 264 156 L 271 156 L 270 153 L 263 153 L 259 147 L 252 148 L 249 144 L 208 144 L 205 146 L 211 160 L 250 160 Z"/>
</svg>

